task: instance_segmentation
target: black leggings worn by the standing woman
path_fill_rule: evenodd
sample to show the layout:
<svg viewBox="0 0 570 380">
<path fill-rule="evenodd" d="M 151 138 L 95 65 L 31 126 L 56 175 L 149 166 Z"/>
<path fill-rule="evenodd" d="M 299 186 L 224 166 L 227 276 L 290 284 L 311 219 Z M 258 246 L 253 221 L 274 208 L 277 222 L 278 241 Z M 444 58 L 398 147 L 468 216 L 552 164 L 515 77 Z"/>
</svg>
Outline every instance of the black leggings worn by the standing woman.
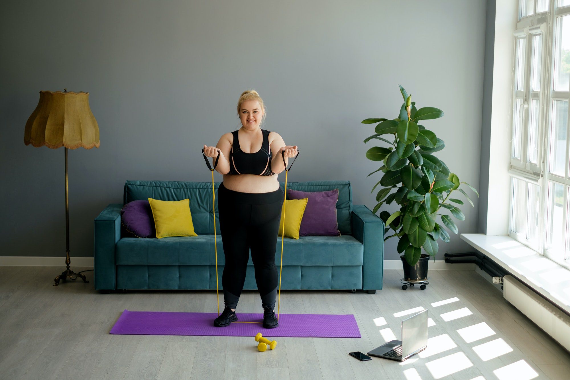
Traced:
<svg viewBox="0 0 570 380">
<path fill-rule="evenodd" d="M 255 268 L 255 281 L 264 308 L 275 309 L 279 275 L 275 265 L 275 248 L 281 219 L 284 193 L 277 189 L 267 193 L 244 193 L 218 188 L 218 219 L 222 235 L 222 286 L 224 304 L 238 305 L 246 280 L 247 260 Z"/>
</svg>

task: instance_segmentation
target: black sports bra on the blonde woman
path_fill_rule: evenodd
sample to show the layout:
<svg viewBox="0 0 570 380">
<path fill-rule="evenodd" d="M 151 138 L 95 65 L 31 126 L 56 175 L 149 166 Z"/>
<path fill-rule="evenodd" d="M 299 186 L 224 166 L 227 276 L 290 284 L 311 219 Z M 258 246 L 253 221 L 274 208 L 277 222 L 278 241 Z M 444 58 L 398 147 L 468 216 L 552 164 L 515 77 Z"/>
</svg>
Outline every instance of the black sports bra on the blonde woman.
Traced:
<svg viewBox="0 0 570 380">
<path fill-rule="evenodd" d="M 230 174 L 256 174 L 258 176 L 271 176 L 271 152 L 269 150 L 270 131 L 261 130 L 263 142 L 261 149 L 254 153 L 243 152 L 239 147 L 238 130 L 231 132 L 234 135 L 234 143 L 230 151 Z M 235 145 L 235 150 L 234 150 Z"/>
</svg>

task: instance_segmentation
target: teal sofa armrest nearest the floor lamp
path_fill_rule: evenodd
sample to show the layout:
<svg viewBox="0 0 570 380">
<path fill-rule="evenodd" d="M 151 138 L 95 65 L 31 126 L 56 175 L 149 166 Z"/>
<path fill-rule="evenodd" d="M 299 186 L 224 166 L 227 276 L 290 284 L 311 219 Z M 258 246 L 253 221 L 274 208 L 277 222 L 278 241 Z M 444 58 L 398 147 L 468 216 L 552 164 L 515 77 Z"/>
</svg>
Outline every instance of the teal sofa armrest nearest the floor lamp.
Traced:
<svg viewBox="0 0 570 380">
<path fill-rule="evenodd" d="M 111 203 L 93 222 L 95 289 L 115 289 L 115 244 L 121 238 L 122 203 Z"/>
</svg>

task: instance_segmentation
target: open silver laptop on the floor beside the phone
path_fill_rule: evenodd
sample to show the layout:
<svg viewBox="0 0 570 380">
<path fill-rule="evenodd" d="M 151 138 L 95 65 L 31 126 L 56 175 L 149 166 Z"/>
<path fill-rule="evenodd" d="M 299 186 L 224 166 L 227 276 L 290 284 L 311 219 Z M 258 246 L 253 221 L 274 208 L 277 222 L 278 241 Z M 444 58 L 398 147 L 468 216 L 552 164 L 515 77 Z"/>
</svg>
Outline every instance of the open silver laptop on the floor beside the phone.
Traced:
<svg viewBox="0 0 570 380">
<path fill-rule="evenodd" d="M 389 341 L 368 355 L 404 361 L 427 347 L 427 309 L 402 321 L 402 340 Z"/>
</svg>

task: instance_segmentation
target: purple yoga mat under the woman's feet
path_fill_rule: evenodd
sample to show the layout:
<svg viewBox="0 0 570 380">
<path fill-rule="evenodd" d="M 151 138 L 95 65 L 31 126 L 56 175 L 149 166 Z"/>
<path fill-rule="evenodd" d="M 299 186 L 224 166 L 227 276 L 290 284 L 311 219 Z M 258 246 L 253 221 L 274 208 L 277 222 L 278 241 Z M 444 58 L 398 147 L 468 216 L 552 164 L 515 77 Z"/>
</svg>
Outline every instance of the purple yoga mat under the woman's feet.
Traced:
<svg viewBox="0 0 570 380">
<path fill-rule="evenodd" d="M 238 322 L 263 322 L 260 313 L 237 313 L 237 316 Z M 109 333 L 254 337 L 260 332 L 271 337 L 361 337 L 353 314 L 279 313 L 279 327 L 274 329 L 266 329 L 262 323 L 238 322 L 218 328 L 214 326 L 217 317 L 217 313 L 131 312 L 125 309 Z"/>
</svg>

